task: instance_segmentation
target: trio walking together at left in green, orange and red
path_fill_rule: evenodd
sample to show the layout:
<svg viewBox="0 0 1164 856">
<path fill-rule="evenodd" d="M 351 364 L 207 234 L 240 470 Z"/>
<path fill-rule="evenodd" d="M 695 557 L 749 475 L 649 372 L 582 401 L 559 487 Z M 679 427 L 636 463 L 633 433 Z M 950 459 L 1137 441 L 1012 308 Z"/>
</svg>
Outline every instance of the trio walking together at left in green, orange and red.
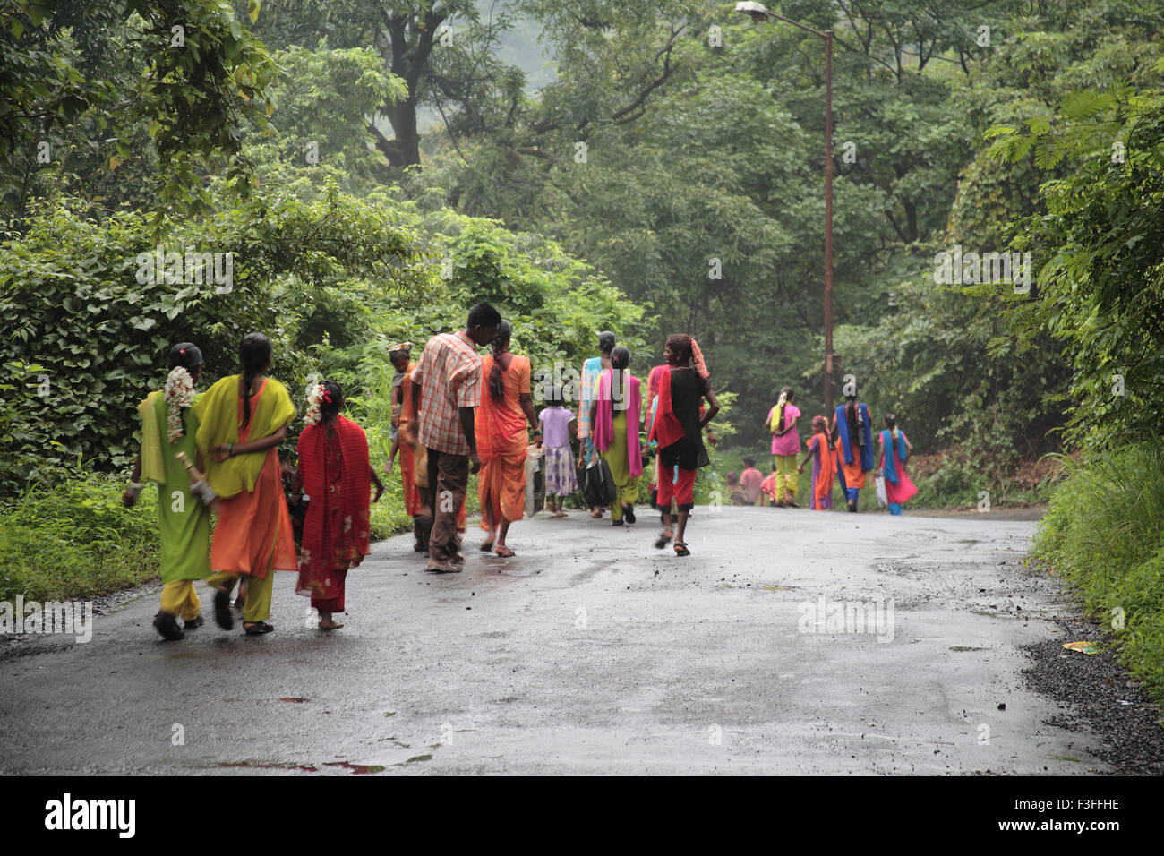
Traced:
<svg viewBox="0 0 1164 856">
<path fill-rule="evenodd" d="M 139 479 L 158 486 L 163 588 L 154 627 L 168 639 L 204 623 L 193 585 L 201 579 L 214 593 L 220 627 L 234 625 L 230 594 L 240 585 L 243 630 L 270 632 L 276 571 L 298 573 L 296 590 L 311 597 L 320 629 L 340 628 L 333 616 L 345 610 L 346 574 L 369 552 L 369 503 L 384 487 L 369 465 L 363 431 L 340 413 L 339 384 L 315 384 L 307 398 L 294 481 L 310 501 L 297 549 L 278 454 L 296 406 L 268 376 L 272 353 L 265 335 L 243 337 L 239 358 L 237 374 L 199 396 L 201 351 L 193 342 L 176 345 L 164 388 L 139 405 L 141 451 L 122 501 L 137 501 Z"/>
</svg>

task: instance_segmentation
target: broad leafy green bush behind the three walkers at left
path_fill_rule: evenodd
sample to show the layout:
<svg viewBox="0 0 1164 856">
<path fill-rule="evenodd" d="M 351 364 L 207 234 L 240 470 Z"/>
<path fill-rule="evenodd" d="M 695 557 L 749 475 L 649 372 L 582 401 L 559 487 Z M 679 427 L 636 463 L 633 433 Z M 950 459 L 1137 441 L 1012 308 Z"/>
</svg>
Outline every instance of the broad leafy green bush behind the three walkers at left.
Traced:
<svg viewBox="0 0 1164 856">
<path fill-rule="evenodd" d="M 304 333 L 357 338 L 369 324 L 368 292 L 385 286 L 353 277 L 416 260 L 414 243 L 411 232 L 338 193 L 308 203 L 272 193 L 164 241 L 176 254 L 233 254 L 232 282 L 196 276 L 185 253 L 173 259 L 185 282 L 158 282 L 137 260 L 155 248 L 144 217 L 122 212 L 95 224 L 64 199 L 45 203 L 27 234 L 0 242 L 0 319 L 9 331 L 0 408 L 19 413 L 3 432 L 0 496 L 51 477 L 78 454 L 125 467 L 136 452 L 134 405 L 161 385 L 173 342 L 197 342 L 214 379 L 236 370 L 240 339 L 262 330 L 275 347 L 272 374 L 299 388 L 313 367 Z M 427 276 L 406 264 L 395 282 L 407 288 Z M 317 316 L 322 321 L 312 326 Z M 30 377 L 30 363 L 43 373 Z"/>
</svg>

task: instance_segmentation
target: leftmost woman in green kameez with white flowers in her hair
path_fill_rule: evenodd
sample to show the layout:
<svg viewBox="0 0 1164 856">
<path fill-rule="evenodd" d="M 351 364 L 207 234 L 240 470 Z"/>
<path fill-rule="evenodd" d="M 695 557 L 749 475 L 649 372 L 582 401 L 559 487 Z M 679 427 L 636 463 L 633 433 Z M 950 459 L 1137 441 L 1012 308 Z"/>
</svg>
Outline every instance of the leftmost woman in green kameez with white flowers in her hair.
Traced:
<svg viewBox="0 0 1164 856">
<path fill-rule="evenodd" d="M 157 525 L 162 543 L 162 609 L 154 616 L 154 627 L 166 639 L 180 639 L 185 629 L 201 627 L 201 606 L 194 592 L 194 580 L 211 574 L 210 486 L 190 483 L 185 467 L 178 461 L 183 452 L 201 469 L 194 445 L 198 417 L 191 405 L 194 385 L 201 376 L 203 355 L 191 342 L 175 345 L 170 351 L 170 374 L 165 389 L 150 392 L 137 412 L 142 420 L 142 443 L 129 487 L 122 496 L 127 507 L 137 501 L 142 489 L 139 479 L 157 483 Z"/>
</svg>

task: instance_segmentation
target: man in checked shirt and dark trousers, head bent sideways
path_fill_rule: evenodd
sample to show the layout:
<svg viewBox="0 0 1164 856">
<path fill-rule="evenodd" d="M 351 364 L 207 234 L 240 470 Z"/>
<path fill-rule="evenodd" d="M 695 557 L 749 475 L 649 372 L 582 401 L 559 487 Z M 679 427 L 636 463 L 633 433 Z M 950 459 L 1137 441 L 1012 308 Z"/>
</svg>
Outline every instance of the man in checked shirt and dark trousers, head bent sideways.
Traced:
<svg viewBox="0 0 1164 856">
<path fill-rule="evenodd" d="M 469 310 L 466 328 L 440 333 L 425 345 L 412 369 L 412 399 L 419 402 L 418 440 L 428 450 L 428 489 L 433 497 L 428 566 L 434 573 L 457 573 L 464 557 L 456 543 L 456 514 L 464 502 L 469 473 L 481 468 L 474 410 L 481 405 L 481 358 L 502 317 L 487 303 Z"/>
</svg>

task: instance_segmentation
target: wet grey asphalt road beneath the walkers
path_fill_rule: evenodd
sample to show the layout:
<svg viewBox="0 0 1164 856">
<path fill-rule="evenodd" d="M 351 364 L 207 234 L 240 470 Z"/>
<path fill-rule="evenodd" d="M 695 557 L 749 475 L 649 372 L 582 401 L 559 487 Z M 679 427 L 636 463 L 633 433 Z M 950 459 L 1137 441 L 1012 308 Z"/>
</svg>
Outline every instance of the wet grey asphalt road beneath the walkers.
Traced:
<svg viewBox="0 0 1164 856">
<path fill-rule="evenodd" d="M 0 772 L 1110 770 L 1021 678 L 1073 611 L 1022 566 L 1032 522 L 698 508 L 682 559 L 658 529 L 539 514 L 499 559 L 470 524 L 440 576 L 382 542 L 331 634 L 282 573 L 274 634 L 219 630 L 204 595 L 207 624 L 162 642 L 147 587 L 87 644 L 2 648 Z"/>
</svg>

